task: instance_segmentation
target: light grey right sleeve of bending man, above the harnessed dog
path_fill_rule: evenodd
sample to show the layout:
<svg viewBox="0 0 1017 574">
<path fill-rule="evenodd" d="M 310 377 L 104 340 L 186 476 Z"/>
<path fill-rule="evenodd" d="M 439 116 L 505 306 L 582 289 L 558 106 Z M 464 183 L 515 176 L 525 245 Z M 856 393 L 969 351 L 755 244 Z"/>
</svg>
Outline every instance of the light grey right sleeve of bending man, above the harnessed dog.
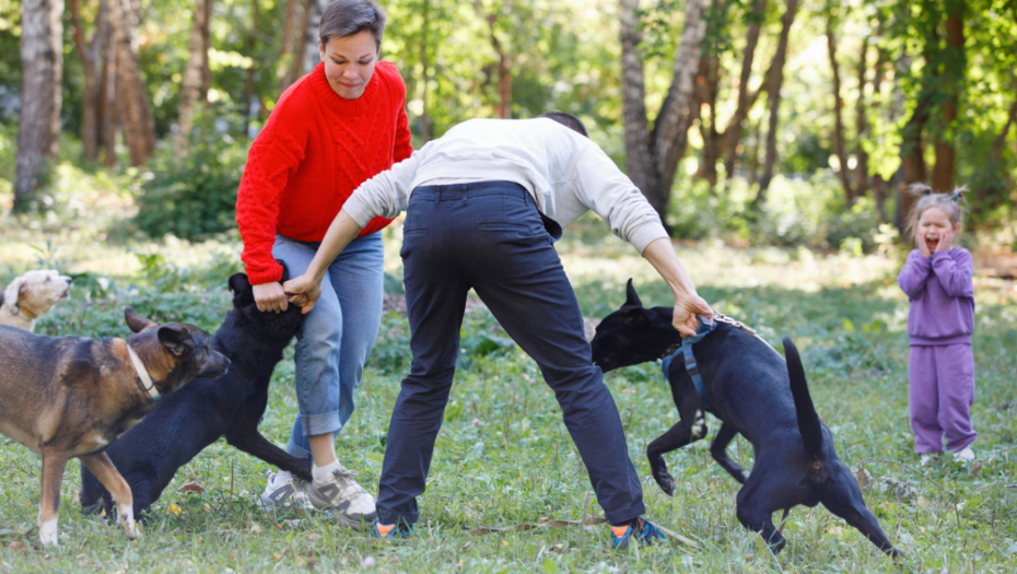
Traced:
<svg viewBox="0 0 1017 574">
<path fill-rule="evenodd" d="M 583 203 L 641 255 L 654 241 L 668 237 L 661 216 L 635 184 L 596 143 L 587 140 L 582 144 L 574 174 Z"/>
</svg>

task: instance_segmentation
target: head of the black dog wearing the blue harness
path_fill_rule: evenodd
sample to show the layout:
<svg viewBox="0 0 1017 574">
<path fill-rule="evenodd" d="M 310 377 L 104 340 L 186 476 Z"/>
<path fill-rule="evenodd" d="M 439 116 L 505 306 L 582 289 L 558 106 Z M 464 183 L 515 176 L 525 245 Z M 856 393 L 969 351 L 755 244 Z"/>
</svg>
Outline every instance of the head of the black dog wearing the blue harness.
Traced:
<svg viewBox="0 0 1017 574">
<path fill-rule="evenodd" d="M 607 373 L 661 359 L 664 351 L 681 340 L 671 325 L 673 316 L 673 307 L 644 307 L 630 279 L 624 305 L 597 325 L 597 335 L 591 341 L 594 364 Z"/>
</svg>

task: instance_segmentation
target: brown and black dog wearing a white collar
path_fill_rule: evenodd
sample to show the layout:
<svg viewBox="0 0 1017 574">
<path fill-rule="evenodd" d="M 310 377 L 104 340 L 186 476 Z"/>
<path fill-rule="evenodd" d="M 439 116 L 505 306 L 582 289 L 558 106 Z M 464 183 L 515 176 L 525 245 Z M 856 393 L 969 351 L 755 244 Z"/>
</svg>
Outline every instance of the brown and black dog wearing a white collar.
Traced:
<svg viewBox="0 0 1017 574">
<path fill-rule="evenodd" d="M 60 481 L 78 457 L 113 493 L 119 522 L 135 527 L 130 487 L 106 445 L 140 421 L 161 394 L 221 376 L 230 360 L 194 325 L 159 325 L 130 307 L 124 339 L 44 337 L 0 326 L 0 432 L 43 457 L 39 538 L 57 543 Z"/>
</svg>

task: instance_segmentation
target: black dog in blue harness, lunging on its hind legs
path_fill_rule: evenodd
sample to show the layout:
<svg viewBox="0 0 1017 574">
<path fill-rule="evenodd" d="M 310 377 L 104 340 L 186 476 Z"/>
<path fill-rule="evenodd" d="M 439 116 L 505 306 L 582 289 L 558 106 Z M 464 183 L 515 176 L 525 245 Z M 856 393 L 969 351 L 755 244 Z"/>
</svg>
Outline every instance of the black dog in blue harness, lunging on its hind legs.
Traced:
<svg viewBox="0 0 1017 574">
<path fill-rule="evenodd" d="M 597 327 L 593 360 L 607 373 L 666 356 L 681 344 L 671 326 L 673 307 L 643 307 L 629 280 L 628 300 Z M 785 363 L 755 331 L 724 316 L 693 347 L 703 378 L 706 403 L 721 420 L 710 453 L 744 487 L 738 491 L 738 520 L 762 532 L 774 553 L 786 541 L 774 527 L 774 511 L 798 504 L 822 503 L 857 528 L 890 555 L 900 553 L 887 539 L 862 491 L 833 450 L 830 430 L 813 407 L 805 370 L 791 339 L 784 338 Z M 679 355 L 680 358 L 681 355 Z M 671 495 L 675 480 L 662 455 L 705 436 L 704 401 L 686 371 L 683 360 L 671 361 L 667 372 L 681 421 L 646 448 L 657 484 Z M 727 444 L 740 433 L 752 443 L 756 464 L 748 473 L 727 456 Z"/>
</svg>

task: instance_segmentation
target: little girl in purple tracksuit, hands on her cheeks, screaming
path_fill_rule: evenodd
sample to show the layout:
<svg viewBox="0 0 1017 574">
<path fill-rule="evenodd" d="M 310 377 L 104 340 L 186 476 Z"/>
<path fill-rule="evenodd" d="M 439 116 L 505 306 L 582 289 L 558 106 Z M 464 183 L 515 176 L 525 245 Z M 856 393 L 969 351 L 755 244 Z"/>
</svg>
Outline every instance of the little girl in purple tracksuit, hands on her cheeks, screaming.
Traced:
<svg viewBox="0 0 1017 574">
<path fill-rule="evenodd" d="M 909 218 L 917 249 L 908 255 L 897 278 L 911 301 L 909 398 L 914 449 L 922 454 L 922 465 L 943 453 L 944 436 L 955 460 L 974 459 L 974 262 L 971 251 L 954 245 L 963 191 L 933 194 L 927 186 L 913 186 L 912 192 L 922 196 Z"/>
</svg>

